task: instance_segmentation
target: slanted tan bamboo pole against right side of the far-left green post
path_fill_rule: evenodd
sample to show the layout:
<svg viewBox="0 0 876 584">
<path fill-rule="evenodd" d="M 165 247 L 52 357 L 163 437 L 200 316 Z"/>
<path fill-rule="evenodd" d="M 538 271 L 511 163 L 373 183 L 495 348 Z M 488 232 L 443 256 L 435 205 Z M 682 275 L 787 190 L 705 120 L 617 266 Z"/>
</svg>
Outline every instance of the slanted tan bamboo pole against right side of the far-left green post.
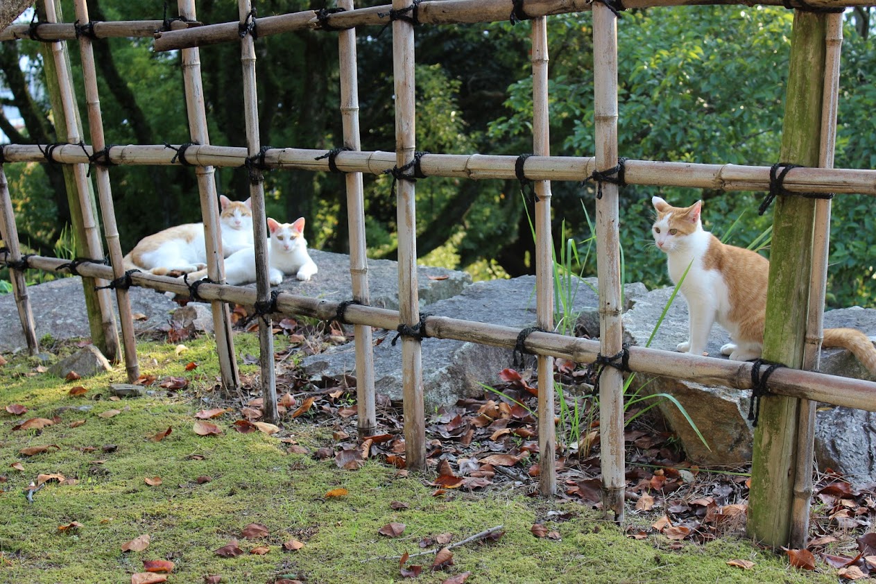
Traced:
<svg viewBox="0 0 876 584">
<path fill-rule="evenodd" d="M 58 20 L 60 4 L 58 0 L 46 0 L 46 18 L 49 22 Z M 82 130 L 79 110 L 73 92 L 70 57 L 65 43 L 46 44 L 49 51 L 44 52 L 43 66 L 46 69 L 46 87 L 52 100 L 55 133 L 59 140 L 78 143 Z M 76 234 L 76 254 L 91 259 L 102 259 L 100 228 L 95 217 L 95 196 L 88 179 L 88 165 L 73 165 L 72 171 L 64 172 L 67 183 L 67 200 Z M 118 347 L 116 316 L 112 310 L 109 290 L 95 290 L 95 286 L 107 285 L 104 280 L 82 278 L 85 292 L 85 305 L 88 311 L 88 324 L 91 341 L 100 348 L 103 355 L 112 362 L 121 358 Z"/>
</svg>

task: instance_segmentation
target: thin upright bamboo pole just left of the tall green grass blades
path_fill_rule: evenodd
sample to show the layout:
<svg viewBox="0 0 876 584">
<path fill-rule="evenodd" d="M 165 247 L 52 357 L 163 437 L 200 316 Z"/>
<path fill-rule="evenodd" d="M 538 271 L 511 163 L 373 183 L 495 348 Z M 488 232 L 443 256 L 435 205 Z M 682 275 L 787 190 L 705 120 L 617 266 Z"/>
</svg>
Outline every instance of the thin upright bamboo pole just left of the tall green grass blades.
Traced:
<svg viewBox="0 0 876 584">
<path fill-rule="evenodd" d="M 533 18 L 533 154 L 550 156 L 548 124 L 548 19 Z M 535 182 L 535 304 L 538 326 L 554 330 L 554 256 L 551 247 L 550 181 Z M 554 357 L 539 355 L 539 490 L 556 492 Z"/>
</svg>

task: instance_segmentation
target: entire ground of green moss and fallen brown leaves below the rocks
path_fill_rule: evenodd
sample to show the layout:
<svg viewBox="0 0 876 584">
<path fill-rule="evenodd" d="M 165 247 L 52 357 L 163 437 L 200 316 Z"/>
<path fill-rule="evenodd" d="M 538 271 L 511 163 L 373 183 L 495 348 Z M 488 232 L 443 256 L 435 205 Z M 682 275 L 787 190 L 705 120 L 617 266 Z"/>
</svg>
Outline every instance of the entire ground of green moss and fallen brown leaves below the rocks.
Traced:
<svg viewBox="0 0 876 584">
<path fill-rule="evenodd" d="M 605 521 L 598 416 L 581 383 L 589 374 L 571 363 L 557 371 L 561 492 L 546 500 L 536 496 L 526 371 L 508 369 L 496 392 L 434 412 L 429 470 L 415 475 L 404 468 L 398 404 L 378 398 L 380 433 L 363 445 L 355 380 L 299 376 L 298 355 L 342 331 L 284 320 L 275 332 L 276 426 L 261 419 L 251 333 L 236 334 L 247 383 L 235 395 L 218 388 L 213 342 L 180 331 L 169 331 L 171 343 L 138 344 L 142 395 L 127 398 L 109 391 L 126 381 L 121 367 L 88 379 L 45 373 L 75 343 L 49 344 L 43 360 L 0 355 L 0 581 L 836 582 L 876 573 L 872 491 L 821 477 L 814 545 L 776 554 L 744 538 L 745 469 L 692 467 L 646 416 L 626 436 L 625 527 Z"/>
</svg>

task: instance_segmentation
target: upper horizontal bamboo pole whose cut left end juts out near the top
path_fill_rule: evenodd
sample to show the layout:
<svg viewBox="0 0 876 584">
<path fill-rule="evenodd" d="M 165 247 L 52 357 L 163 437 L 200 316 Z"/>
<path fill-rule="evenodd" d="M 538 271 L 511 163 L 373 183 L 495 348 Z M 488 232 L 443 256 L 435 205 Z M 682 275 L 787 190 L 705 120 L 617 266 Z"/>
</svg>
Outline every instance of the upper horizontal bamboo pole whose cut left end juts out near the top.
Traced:
<svg viewBox="0 0 876 584">
<path fill-rule="evenodd" d="M 783 5 L 782 0 L 761 0 L 750 3 L 739 0 L 624 0 L 626 9 L 649 8 L 653 6 L 684 6 L 684 5 L 715 5 L 715 4 L 766 4 Z M 792 4 L 796 4 L 792 0 Z M 867 6 L 871 0 L 807 0 L 814 7 L 840 8 L 845 6 Z M 523 11 L 529 18 L 543 17 L 553 14 L 589 11 L 591 2 L 588 0 L 526 0 Z M 308 28 L 325 30 L 343 30 L 354 26 L 386 25 L 389 22 L 391 5 L 371 6 L 354 11 L 343 11 L 329 14 L 326 26 L 316 18 L 314 11 L 294 12 L 280 16 L 256 18 L 258 36 L 266 37 L 282 32 L 300 31 Z M 417 20 L 424 25 L 459 25 L 485 22 L 501 22 L 511 18 L 511 0 L 440 0 L 438 2 L 422 2 L 417 7 Z M 213 45 L 215 43 L 231 42 L 239 39 L 237 22 L 205 25 L 187 30 L 162 32 L 156 35 L 155 50 L 170 51 L 192 46 Z"/>
</svg>

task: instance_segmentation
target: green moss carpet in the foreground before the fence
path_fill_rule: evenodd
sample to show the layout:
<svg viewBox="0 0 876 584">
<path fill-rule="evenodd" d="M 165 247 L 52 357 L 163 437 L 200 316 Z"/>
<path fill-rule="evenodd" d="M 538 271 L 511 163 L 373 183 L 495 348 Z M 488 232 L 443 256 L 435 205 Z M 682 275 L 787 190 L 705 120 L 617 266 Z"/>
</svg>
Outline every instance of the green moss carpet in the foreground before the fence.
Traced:
<svg viewBox="0 0 876 584">
<path fill-rule="evenodd" d="M 258 354 L 258 341 L 251 334 L 236 339 L 238 355 Z M 144 373 L 159 379 L 186 376 L 191 383 L 185 391 L 152 386 L 145 396 L 119 401 L 110 400 L 107 389 L 109 383 L 126 381 L 121 367 L 67 382 L 39 373 L 34 358 L 4 355 L 0 581 L 127 582 L 151 559 L 173 561 L 170 582 L 201 582 L 208 574 L 219 574 L 223 582 L 285 577 L 309 583 L 429 583 L 466 572 L 468 582 L 837 581 L 830 568 L 796 569 L 784 556 L 744 539 L 719 538 L 707 545 L 678 545 L 663 535 L 632 539 L 578 503 L 549 502 L 510 487 L 433 496 L 427 479 L 399 475 L 378 461 L 344 470 L 333 458 L 318 461 L 310 454 L 289 454 L 291 440 L 311 453 L 335 443 L 331 427 L 307 415 L 284 419 L 282 432 L 267 435 L 235 432 L 232 423 L 240 416 L 228 412 L 210 420 L 223 433 L 200 436 L 193 430 L 194 413 L 215 407 L 218 363 L 211 340 L 186 341 L 186 346 L 182 352 L 155 342 L 138 346 Z M 72 350 L 70 344 L 55 348 L 60 354 Z M 189 362 L 197 368 L 187 371 Z M 242 370 L 254 375 L 257 366 L 244 365 Z M 88 391 L 72 397 L 74 386 Z M 24 405 L 28 412 L 3 412 L 13 404 Z M 109 410 L 121 412 L 100 416 Z M 60 420 L 52 426 L 12 429 L 25 419 L 55 416 Z M 81 420 L 84 424 L 74 423 Z M 166 438 L 152 440 L 168 427 L 173 430 Z M 46 445 L 57 448 L 20 454 L 22 448 Z M 28 503 L 23 491 L 41 474 L 74 481 L 47 482 Z M 145 482 L 156 476 L 159 486 Z M 326 496 L 338 488 L 347 495 Z M 407 509 L 395 510 L 393 502 L 406 503 Z M 555 523 L 549 517 L 558 516 L 548 516 L 552 510 L 570 511 L 572 517 Z M 632 521 L 635 513 L 630 510 Z M 81 527 L 59 529 L 74 521 Z M 536 521 L 545 521 L 561 538 L 533 537 L 530 529 Z M 390 522 L 406 525 L 399 537 L 378 534 Z M 264 524 L 268 537 L 241 538 L 251 523 Z M 420 552 L 424 538 L 451 533 L 452 541 L 459 541 L 496 525 L 504 526 L 504 536 L 454 548 L 454 564 L 441 571 L 429 569 L 432 556 L 410 559 L 408 566 L 424 566 L 416 580 L 402 577 L 397 559 L 379 559 Z M 151 537 L 144 551 L 122 551 L 124 543 L 144 534 Z M 223 558 L 215 553 L 234 538 L 242 555 Z M 293 539 L 303 547 L 286 551 L 283 544 Z M 269 551 L 252 554 L 259 545 Z M 729 566 L 731 559 L 751 560 L 754 566 Z"/>
</svg>

